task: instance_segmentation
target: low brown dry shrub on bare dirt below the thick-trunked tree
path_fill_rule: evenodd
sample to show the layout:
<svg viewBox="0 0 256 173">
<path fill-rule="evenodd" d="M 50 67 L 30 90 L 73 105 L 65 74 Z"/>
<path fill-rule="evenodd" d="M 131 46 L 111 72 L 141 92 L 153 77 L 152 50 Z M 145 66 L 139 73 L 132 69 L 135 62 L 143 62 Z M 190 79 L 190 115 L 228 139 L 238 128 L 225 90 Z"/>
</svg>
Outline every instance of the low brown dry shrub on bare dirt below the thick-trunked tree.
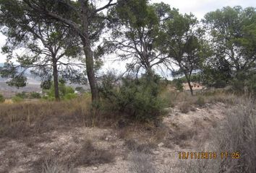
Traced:
<svg viewBox="0 0 256 173">
<path fill-rule="evenodd" d="M 93 164 L 108 164 L 114 161 L 115 155 L 108 150 L 95 148 L 91 141 L 85 141 L 71 162 L 74 161 L 76 166 L 90 166 Z"/>
</svg>

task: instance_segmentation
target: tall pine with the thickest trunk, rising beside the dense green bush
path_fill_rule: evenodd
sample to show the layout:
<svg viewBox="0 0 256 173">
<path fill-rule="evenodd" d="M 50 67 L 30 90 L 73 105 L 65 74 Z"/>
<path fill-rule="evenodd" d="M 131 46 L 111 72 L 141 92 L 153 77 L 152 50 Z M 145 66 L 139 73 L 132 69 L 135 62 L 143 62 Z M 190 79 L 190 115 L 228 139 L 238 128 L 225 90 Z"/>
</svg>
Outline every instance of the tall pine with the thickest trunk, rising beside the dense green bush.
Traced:
<svg viewBox="0 0 256 173">
<path fill-rule="evenodd" d="M 114 6 L 113 0 L 108 0 L 101 7 L 96 6 L 98 1 L 89 0 L 23 0 L 29 10 L 38 13 L 42 18 L 54 19 L 74 30 L 82 40 L 85 53 L 86 71 L 92 92 L 93 101 L 98 101 L 98 86 L 95 79 L 94 55 L 92 46 L 99 39 L 105 26 L 106 17 L 102 11 Z"/>
</svg>

